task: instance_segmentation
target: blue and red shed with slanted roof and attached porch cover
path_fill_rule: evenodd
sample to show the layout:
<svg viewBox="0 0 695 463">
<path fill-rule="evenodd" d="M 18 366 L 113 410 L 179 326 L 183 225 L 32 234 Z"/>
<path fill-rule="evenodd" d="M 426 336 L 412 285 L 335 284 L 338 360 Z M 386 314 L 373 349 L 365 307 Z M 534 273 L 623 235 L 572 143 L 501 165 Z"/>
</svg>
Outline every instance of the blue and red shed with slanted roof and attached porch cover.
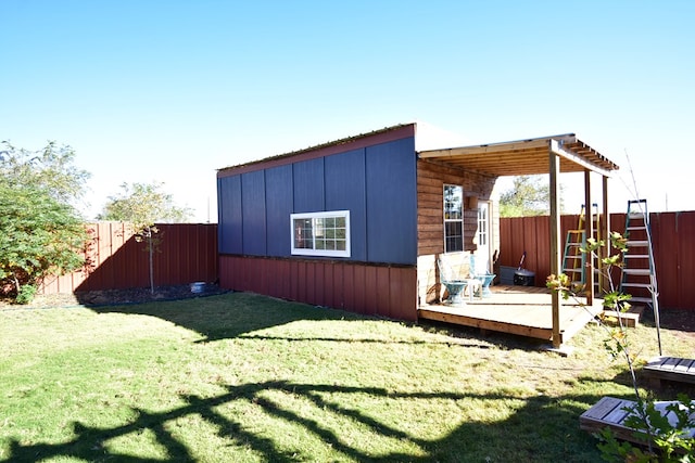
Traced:
<svg viewBox="0 0 695 463">
<path fill-rule="evenodd" d="M 472 254 L 491 270 L 498 177 L 617 168 L 573 134 L 418 151 L 417 131 L 400 125 L 220 169 L 220 285 L 415 321 L 441 297 L 438 258 L 465 272 Z"/>
</svg>

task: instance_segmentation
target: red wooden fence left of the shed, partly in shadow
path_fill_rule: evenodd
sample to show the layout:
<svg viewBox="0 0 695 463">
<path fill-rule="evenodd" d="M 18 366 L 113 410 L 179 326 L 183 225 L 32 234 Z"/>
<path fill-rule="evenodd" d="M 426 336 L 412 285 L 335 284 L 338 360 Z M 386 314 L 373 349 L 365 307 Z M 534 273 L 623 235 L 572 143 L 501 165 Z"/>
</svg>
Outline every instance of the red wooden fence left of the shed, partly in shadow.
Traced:
<svg viewBox="0 0 695 463">
<path fill-rule="evenodd" d="M 86 226 L 91 241 L 81 271 L 43 282 L 43 294 L 149 287 L 149 255 L 122 222 Z M 157 224 L 161 240 L 154 253 L 156 286 L 212 283 L 217 280 L 217 224 Z"/>
</svg>

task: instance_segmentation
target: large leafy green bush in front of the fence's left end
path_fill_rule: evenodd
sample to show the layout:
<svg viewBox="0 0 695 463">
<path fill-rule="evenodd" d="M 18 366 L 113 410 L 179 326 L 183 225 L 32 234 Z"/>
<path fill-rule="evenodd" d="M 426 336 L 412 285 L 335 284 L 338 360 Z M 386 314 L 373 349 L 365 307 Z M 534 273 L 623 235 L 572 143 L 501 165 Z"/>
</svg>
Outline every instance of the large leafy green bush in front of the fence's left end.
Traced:
<svg viewBox="0 0 695 463">
<path fill-rule="evenodd" d="M 0 287 L 27 304 L 46 276 L 85 263 L 88 235 L 74 203 L 88 173 L 72 166 L 67 146 L 0 147 Z"/>
</svg>

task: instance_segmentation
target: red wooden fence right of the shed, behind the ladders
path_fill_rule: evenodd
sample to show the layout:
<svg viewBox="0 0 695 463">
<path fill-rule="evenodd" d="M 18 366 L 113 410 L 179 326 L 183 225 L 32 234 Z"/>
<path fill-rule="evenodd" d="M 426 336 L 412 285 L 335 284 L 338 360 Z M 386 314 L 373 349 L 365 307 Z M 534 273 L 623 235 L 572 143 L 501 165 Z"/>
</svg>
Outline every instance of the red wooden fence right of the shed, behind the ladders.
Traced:
<svg viewBox="0 0 695 463">
<path fill-rule="evenodd" d="M 535 272 L 536 286 L 549 274 L 549 217 L 503 218 L 500 221 L 500 265 L 523 267 Z M 665 308 L 695 309 L 695 211 L 649 214 L 654 265 L 659 305 Z M 568 230 L 577 229 L 578 216 L 560 219 L 563 242 Z M 626 214 L 610 215 L 610 230 L 624 233 Z"/>
</svg>

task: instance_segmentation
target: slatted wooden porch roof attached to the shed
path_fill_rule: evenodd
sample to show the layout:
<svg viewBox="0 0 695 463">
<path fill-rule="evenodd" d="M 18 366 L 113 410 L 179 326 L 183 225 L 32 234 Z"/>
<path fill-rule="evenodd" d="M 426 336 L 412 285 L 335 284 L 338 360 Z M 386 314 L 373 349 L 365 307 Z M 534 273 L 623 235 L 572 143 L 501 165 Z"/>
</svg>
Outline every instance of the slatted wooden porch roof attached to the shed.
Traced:
<svg viewBox="0 0 695 463">
<path fill-rule="evenodd" d="M 579 140 L 574 133 L 502 143 L 426 150 L 420 158 L 453 164 L 467 170 L 502 176 L 548 173 L 548 154 L 559 155 L 561 172 L 591 170 L 609 177 L 619 166 Z"/>
</svg>

